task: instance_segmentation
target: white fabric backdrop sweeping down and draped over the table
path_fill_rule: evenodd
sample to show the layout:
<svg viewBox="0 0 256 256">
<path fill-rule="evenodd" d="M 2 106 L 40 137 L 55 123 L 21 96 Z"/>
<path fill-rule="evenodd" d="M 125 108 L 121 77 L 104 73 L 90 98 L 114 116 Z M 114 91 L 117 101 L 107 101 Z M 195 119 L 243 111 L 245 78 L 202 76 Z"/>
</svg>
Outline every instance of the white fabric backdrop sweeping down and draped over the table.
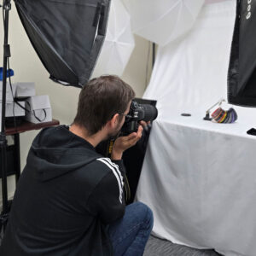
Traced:
<svg viewBox="0 0 256 256">
<path fill-rule="evenodd" d="M 152 208 L 156 236 L 255 256 L 256 137 L 246 131 L 256 128 L 256 109 L 233 106 L 235 124 L 202 120 L 227 94 L 235 14 L 235 0 L 207 4 L 189 34 L 158 49 L 144 97 L 158 101 L 159 117 L 137 200 Z"/>
</svg>

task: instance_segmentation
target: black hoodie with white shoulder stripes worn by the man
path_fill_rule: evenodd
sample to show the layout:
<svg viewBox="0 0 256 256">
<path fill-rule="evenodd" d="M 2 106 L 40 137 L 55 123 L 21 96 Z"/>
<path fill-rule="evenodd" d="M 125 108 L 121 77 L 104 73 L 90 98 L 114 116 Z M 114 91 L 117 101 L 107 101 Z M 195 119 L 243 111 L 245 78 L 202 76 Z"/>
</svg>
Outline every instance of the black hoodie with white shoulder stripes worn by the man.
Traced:
<svg viewBox="0 0 256 256">
<path fill-rule="evenodd" d="M 125 212 L 124 166 L 65 125 L 34 139 L 20 176 L 1 256 L 113 255 L 108 224 Z"/>
</svg>

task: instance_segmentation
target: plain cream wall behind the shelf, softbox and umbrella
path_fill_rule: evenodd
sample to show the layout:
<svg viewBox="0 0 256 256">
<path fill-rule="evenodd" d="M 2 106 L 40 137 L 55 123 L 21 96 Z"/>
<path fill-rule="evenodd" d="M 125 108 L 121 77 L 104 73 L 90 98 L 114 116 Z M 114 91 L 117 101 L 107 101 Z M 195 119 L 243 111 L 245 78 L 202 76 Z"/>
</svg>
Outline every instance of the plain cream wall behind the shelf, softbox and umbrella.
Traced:
<svg viewBox="0 0 256 256">
<path fill-rule="evenodd" d="M 2 12 L 1 12 L 2 13 Z M 9 12 L 9 44 L 11 47 L 10 67 L 14 69 L 15 82 L 35 82 L 37 95 L 49 95 L 53 118 L 59 119 L 61 124 L 70 124 L 76 113 L 78 96 L 80 89 L 65 87 L 55 84 L 49 79 L 49 73 L 44 69 L 39 61 L 29 39 L 26 36 L 19 16 L 17 15 L 15 4 L 12 2 L 12 9 Z M 0 67 L 3 67 L 3 19 L 0 18 Z M 125 68 L 122 79 L 136 91 L 137 96 L 142 96 L 146 87 L 146 70 L 148 61 L 149 42 L 143 38 L 136 37 L 136 48 L 131 55 L 131 59 Z M 148 77 L 150 75 L 151 64 L 148 65 Z M 21 168 L 25 166 L 26 155 L 32 139 L 38 131 L 27 131 L 20 134 L 20 158 Z M 1 185 L 0 185 L 1 188 Z M 14 178 L 9 177 L 9 195 L 15 190 Z M 0 202 L 2 201 L 2 189 L 0 191 Z"/>
</svg>

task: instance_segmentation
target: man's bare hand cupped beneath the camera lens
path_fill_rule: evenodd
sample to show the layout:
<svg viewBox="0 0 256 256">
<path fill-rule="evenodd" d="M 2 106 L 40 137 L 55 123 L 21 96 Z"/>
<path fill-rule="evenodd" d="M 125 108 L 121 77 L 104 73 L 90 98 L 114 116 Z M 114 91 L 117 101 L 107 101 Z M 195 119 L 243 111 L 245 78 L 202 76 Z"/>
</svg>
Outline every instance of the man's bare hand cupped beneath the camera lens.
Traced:
<svg viewBox="0 0 256 256">
<path fill-rule="evenodd" d="M 112 160 L 120 160 L 125 150 L 134 146 L 142 137 L 143 125 L 147 125 L 147 123 L 142 121 L 141 124 L 142 125 L 139 125 L 137 132 L 132 132 L 128 136 L 118 137 L 115 140 L 111 154 Z"/>
</svg>

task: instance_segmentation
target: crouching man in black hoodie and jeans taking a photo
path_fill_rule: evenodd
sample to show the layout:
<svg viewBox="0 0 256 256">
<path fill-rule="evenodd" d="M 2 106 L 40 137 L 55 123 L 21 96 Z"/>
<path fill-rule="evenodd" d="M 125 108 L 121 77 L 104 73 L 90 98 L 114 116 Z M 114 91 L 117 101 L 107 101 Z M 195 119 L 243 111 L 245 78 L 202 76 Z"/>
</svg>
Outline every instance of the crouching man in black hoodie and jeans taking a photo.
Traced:
<svg viewBox="0 0 256 256">
<path fill-rule="evenodd" d="M 96 145 L 116 136 L 135 96 L 115 76 L 92 79 L 80 92 L 73 125 L 34 139 L 3 236 L 3 256 L 143 255 L 153 214 L 125 206 L 122 154 L 143 127 L 113 144 L 111 160 Z"/>
</svg>

